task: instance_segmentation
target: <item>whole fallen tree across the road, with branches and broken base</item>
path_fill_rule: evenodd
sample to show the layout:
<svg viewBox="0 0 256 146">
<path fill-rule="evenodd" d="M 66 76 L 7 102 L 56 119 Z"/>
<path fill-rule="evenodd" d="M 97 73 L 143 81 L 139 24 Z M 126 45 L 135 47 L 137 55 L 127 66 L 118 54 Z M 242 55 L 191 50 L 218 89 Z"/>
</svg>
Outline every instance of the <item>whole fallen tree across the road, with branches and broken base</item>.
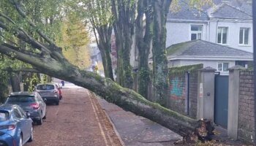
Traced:
<svg viewBox="0 0 256 146">
<path fill-rule="evenodd" d="M 20 9 L 20 5 L 16 1 L 12 1 L 12 4 L 20 15 L 26 19 L 26 15 L 23 13 L 22 9 Z M 2 18 L 0 19 L 0 28 L 14 35 L 21 41 L 26 42 L 27 45 L 31 46 L 33 49 L 33 51 L 28 51 L 17 45 L 3 42 L 0 45 L 0 53 L 8 55 L 10 58 L 16 58 L 31 64 L 33 69 L 28 69 L 29 72 L 41 72 L 61 80 L 67 80 L 83 88 L 87 88 L 124 110 L 153 120 L 154 122 L 181 134 L 181 136 L 205 136 L 198 132 L 198 128 L 202 126 L 202 121 L 188 118 L 177 112 L 168 110 L 165 107 L 161 107 L 159 104 L 146 100 L 135 91 L 128 88 L 122 88 L 109 78 L 100 77 L 93 72 L 86 72 L 78 69 L 77 66 L 70 64 L 69 61 L 64 58 L 61 48 L 57 47 L 52 40 L 36 28 L 33 22 L 28 20 L 31 28 L 35 28 L 37 34 L 39 34 L 42 39 L 34 39 L 29 33 L 23 30 L 23 28 L 8 27 L 9 23 L 16 26 L 15 22 L 1 12 L 0 17 Z M 39 42 L 38 40 L 43 41 Z M 25 70 L 23 69 L 23 72 L 24 71 Z M 206 123 L 203 122 L 203 124 Z M 207 129 L 208 128 L 206 128 L 207 135 L 211 134 L 211 130 L 207 131 Z"/>
</svg>

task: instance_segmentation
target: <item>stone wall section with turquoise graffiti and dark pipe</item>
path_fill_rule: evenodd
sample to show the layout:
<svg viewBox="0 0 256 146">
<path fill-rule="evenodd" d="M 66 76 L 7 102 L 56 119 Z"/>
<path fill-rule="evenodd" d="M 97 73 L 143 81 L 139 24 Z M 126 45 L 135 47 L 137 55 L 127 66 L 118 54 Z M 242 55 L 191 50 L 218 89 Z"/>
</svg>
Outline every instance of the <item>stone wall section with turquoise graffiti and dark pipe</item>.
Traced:
<svg viewBox="0 0 256 146">
<path fill-rule="evenodd" d="M 197 118 L 197 71 L 202 68 L 202 64 L 170 68 L 167 99 L 170 110 Z"/>
</svg>

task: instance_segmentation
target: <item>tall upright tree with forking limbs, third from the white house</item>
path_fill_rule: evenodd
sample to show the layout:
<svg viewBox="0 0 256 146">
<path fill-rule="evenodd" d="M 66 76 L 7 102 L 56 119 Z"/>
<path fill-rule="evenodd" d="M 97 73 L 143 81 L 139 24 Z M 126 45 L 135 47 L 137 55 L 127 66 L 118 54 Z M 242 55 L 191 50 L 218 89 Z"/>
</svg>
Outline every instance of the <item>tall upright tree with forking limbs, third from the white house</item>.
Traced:
<svg viewBox="0 0 256 146">
<path fill-rule="evenodd" d="M 118 56 L 116 81 L 126 88 L 132 88 L 133 83 L 132 66 L 129 61 L 135 29 L 136 4 L 137 1 L 111 0 Z"/>
</svg>

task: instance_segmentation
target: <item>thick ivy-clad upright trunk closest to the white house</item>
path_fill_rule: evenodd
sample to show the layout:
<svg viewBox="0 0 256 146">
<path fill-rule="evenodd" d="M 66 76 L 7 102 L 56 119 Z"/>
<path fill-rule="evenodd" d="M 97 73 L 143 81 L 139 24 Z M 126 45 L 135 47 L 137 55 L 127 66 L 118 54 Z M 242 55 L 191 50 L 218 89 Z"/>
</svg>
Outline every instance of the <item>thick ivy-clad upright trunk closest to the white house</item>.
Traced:
<svg viewBox="0 0 256 146">
<path fill-rule="evenodd" d="M 168 69 L 166 42 L 166 16 L 171 0 L 155 0 L 154 7 L 154 37 L 153 37 L 153 86 L 154 101 L 165 106 L 167 103 Z"/>
</svg>

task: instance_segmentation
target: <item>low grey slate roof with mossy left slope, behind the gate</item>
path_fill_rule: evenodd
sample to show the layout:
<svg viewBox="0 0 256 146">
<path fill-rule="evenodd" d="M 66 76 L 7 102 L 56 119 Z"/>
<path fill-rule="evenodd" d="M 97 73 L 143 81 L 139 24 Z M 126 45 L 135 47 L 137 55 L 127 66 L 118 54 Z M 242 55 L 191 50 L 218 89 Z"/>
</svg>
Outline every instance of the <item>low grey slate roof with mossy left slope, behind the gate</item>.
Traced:
<svg viewBox="0 0 256 146">
<path fill-rule="evenodd" d="M 203 40 L 181 42 L 167 47 L 168 57 L 252 58 L 252 53 Z"/>
</svg>

